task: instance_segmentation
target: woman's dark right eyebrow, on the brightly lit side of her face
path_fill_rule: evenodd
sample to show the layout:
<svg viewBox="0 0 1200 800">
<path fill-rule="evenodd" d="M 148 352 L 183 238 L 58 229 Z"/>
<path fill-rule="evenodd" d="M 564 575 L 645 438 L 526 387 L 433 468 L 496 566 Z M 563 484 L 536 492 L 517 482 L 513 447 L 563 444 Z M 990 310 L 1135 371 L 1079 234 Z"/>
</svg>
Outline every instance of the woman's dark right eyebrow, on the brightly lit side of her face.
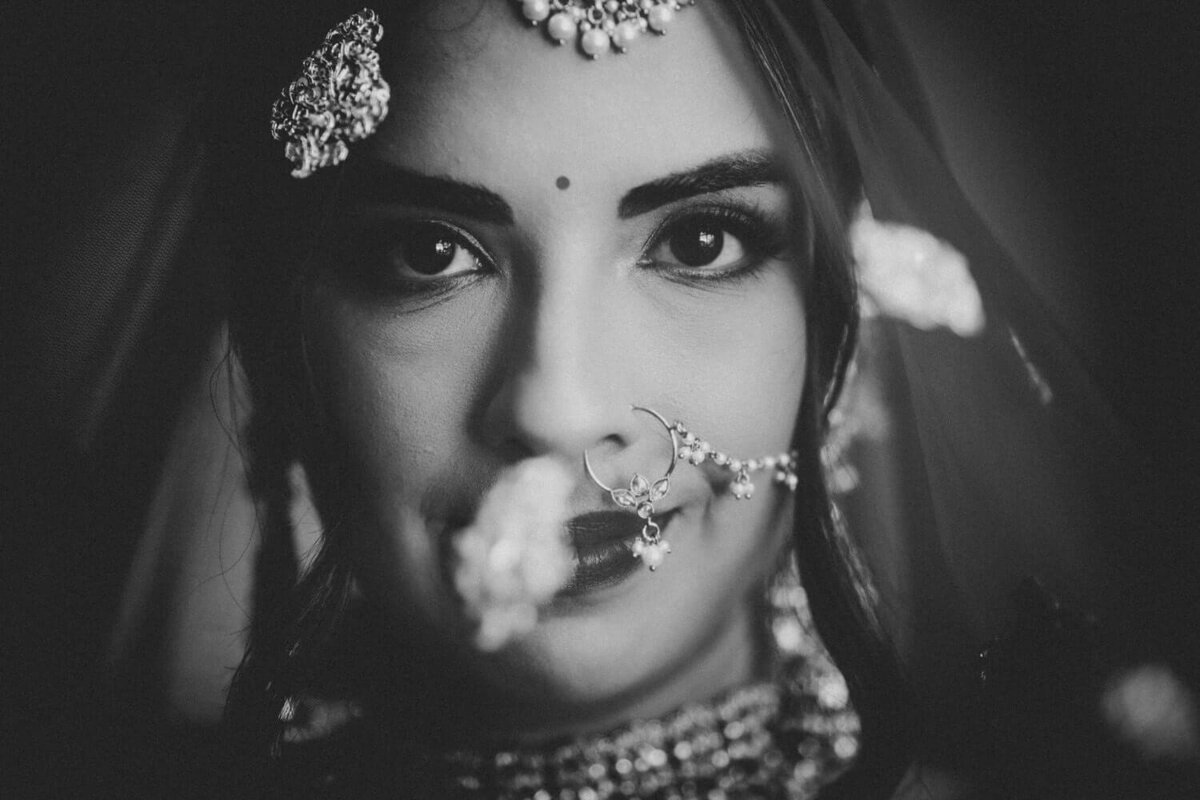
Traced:
<svg viewBox="0 0 1200 800">
<path fill-rule="evenodd" d="M 697 194 L 763 184 L 779 184 L 784 170 L 779 163 L 758 150 L 749 150 L 706 161 L 700 167 L 672 173 L 631 188 L 620 199 L 617 216 L 629 219 L 659 206 Z"/>
</svg>

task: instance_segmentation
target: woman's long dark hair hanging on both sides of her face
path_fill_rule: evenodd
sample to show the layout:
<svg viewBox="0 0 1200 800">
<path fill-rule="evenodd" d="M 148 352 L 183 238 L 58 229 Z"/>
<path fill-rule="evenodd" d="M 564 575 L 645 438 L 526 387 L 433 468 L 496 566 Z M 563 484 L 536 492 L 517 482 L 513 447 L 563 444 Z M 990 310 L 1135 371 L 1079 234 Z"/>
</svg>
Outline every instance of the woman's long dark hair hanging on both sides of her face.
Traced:
<svg viewBox="0 0 1200 800">
<path fill-rule="evenodd" d="M 414 13 L 421 5 L 404 4 L 402 13 Z M 803 276 L 808 375 L 797 425 L 804 491 L 797 493 L 794 549 L 817 627 L 847 679 L 863 722 L 858 763 L 828 792 L 830 796 L 884 795 L 910 758 L 904 735 L 907 696 L 865 590 L 856 549 L 835 519 L 820 456 L 827 413 L 856 343 L 857 290 L 845 219 L 859 200 L 860 179 L 838 115 L 803 90 L 797 60 L 788 58 L 792 46 L 770 10 L 778 6 L 788 29 L 820 60 L 821 44 L 811 38 L 818 28 L 809 18 L 808 4 L 733 0 L 724 5 L 803 145 L 804 162 L 798 169 L 811 173 L 800 181 L 815 219 L 815 267 Z M 402 25 L 403 19 L 396 17 L 390 14 L 385 24 Z M 311 47 L 322 32 L 305 32 L 298 41 Z M 282 54 L 290 60 L 278 60 L 295 65 L 306 52 L 298 47 Z M 275 83 L 264 82 L 264 86 L 282 86 L 290 79 L 288 72 L 265 74 Z M 228 197 L 240 187 L 229 207 L 254 211 L 230 218 L 236 227 L 250 225 L 230 236 L 238 245 L 232 258 L 230 333 L 254 408 L 246 450 L 264 546 L 250 645 L 230 690 L 228 718 L 238 746 L 263 758 L 280 733 L 278 715 L 287 698 L 323 679 L 352 582 L 346 537 L 331 535 L 332 530 L 326 530 L 320 553 L 302 577 L 290 552 L 289 465 L 299 461 L 310 470 L 326 525 L 337 524 L 337 504 L 346 497 L 337 470 L 331 469 L 340 455 L 331 450 L 332 437 L 324 435 L 320 409 L 308 386 L 301 331 L 307 264 L 338 170 L 323 170 L 302 182 L 287 178 L 281 148 L 269 146 L 274 143 L 265 136 L 271 98 L 265 92 L 256 95 L 262 110 L 253 118 L 258 125 L 239 132 L 268 146 L 252 148 L 246 162 L 230 160 L 244 172 L 230 175 L 229 185 L 218 190 Z M 234 150 L 228 140 L 217 146 Z M 307 231 L 306 236 L 298 237 L 298 230 Z"/>
</svg>

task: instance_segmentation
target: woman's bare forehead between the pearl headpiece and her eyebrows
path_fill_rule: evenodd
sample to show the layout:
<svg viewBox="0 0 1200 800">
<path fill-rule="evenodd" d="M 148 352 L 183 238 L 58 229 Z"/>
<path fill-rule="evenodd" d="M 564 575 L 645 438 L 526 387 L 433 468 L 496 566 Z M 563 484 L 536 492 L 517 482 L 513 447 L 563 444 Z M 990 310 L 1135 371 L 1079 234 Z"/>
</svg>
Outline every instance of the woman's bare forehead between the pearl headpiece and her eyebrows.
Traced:
<svg viewBox="0 0 1200 800">
<path fill-rule="evenodd" d="M 560 175 L 636 185 L 714 156 L 770 149 L 779 121 L 715 2 L 596 61 L 522 24 L 505 0 L 450 0 L 382 56 L 389 119 L 368 146 L 390 162 L 488 184 Z"/>
</svg>

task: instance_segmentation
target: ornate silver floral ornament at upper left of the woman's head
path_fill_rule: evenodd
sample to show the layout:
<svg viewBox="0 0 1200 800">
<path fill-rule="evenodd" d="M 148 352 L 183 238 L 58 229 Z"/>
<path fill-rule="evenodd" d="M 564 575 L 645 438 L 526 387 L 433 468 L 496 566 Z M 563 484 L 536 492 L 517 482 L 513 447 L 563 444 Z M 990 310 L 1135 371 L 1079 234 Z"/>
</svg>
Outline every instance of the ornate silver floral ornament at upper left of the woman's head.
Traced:
<svg viewBox="0 0 1200 800">
<path fill-rule="evenodd" d="M 271 108 L 271 136 L 287 143 L 293 178 L 308 178 L 346 161 L 352 142 L 367 138 L 388 116 L 391 90 L 379 72 L 379 16 L 364 8 L 325 34 L 304 60 L 300 77 Z"/>
</svg>

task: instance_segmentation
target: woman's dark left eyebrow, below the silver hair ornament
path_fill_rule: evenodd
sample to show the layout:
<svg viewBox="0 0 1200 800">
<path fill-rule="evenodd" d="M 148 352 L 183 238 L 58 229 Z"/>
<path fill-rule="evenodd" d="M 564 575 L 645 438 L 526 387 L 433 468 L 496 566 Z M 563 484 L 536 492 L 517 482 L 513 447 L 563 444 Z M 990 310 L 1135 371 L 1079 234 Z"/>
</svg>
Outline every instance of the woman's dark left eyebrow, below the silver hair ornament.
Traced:
<svg viewBox="0 0 1200 800">
<path fill-rule="evenodd" d="M 341 191 L 348 200 L 391 203 L 449 211 L 481 222 L 511 225 L 512 206 L 496 192 L 452 178 L 426 175 L 377 158 L 360 160 L 346 172 Z"/>
</svg>

